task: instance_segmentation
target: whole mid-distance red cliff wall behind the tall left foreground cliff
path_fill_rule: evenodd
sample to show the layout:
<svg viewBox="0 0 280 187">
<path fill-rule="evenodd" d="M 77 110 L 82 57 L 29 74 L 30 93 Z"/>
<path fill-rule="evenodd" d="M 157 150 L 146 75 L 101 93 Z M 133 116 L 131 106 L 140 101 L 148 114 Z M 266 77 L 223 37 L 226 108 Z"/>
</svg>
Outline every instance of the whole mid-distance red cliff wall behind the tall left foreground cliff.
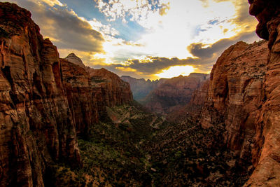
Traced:
<svg viewBox="0 0 280 187">
<path fill-rule="evenodd" d="M 84 69 L 66 59 L 60 62 L 66 96 L 80 136 L 87 136 L 90 126 L 106 113 L 106 106 L 132 101 L 130 85 L 111 71 Z"/>
</svg>

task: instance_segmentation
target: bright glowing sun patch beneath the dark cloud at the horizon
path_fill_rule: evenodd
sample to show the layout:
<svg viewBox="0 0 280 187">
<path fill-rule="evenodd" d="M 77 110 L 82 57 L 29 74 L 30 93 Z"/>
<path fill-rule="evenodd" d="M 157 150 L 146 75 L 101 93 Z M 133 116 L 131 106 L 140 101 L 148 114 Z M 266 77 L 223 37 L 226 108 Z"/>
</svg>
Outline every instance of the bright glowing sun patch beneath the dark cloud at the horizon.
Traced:
<svg viewBox="0 0 280 187">
<path fill-rule="evenodd" d="M 188 76 L 190 73 L 193 73 L 195 71 L 195 68 L 192 66 L 174 66 L 169 67 L 168 69 L 163 69 L 162 73 L 155 74 L 155 76 L 158 76 L 159 78 L 172 78 L 174 76 Z"/>
</svg>

